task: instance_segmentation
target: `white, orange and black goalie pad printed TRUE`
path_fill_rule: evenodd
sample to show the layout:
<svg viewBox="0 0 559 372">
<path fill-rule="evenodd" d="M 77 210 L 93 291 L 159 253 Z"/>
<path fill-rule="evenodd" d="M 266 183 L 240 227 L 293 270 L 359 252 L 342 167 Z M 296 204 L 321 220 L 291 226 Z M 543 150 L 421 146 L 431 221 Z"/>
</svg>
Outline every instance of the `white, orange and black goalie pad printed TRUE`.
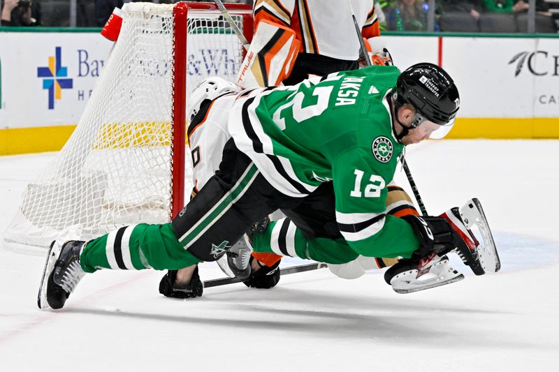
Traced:
<svg viewBox="0 0 559 372">
<path fill-rule="evenodd" d="M 237 75 L 243 88 L 279 85 L 289 76 L 300 47 L 288 27 L 261 20 Z"/>
</svg>

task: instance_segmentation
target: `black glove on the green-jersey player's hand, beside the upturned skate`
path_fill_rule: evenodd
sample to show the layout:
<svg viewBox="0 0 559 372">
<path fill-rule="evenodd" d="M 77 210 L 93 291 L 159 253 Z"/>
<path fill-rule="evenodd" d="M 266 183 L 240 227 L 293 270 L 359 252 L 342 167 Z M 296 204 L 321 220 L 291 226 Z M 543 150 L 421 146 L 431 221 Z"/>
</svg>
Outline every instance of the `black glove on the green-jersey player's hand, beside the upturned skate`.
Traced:
<svg viewBox="0 0 559 372">
<path fill-rule="evenodd" d="M 431 251 L 437 255 L 444 255 L 463 244 L 463 240 L 451 228 L 449 222 L 442 217 L 436 216 L 415 216 L 408 215 L 402 217 L 407 223 L 412 225 L 415 235 L 419 238 L 420 257 L 425 257 Z"/>
</svg>

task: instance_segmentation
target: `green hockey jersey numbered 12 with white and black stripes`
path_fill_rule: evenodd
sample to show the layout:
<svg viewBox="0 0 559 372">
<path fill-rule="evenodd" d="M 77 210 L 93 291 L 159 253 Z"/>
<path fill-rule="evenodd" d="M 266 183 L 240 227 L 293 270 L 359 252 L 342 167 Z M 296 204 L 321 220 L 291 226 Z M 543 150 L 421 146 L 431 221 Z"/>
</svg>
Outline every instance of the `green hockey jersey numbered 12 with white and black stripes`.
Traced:
<svg viewBox="0 0 559 372">
<path fill-rule="evenodd" d="M 333 182 L 336 221 L 357 253 L 394 257 L 419 247 L 410 225 L 384 214 L 404 146 L 387 96 L 400 72 L 371 66 L 241 94 L 229 131 L 278 191 L 293 197 Z"/>
</svg>

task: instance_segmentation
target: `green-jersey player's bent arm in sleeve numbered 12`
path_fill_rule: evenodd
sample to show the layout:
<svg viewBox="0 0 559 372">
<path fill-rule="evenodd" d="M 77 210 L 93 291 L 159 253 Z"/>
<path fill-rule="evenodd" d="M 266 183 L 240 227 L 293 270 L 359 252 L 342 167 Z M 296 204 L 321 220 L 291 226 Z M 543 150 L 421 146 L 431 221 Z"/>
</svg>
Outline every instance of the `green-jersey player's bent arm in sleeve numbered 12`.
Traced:
<svg viewBox="0 0 559 372">
<path fill-rule="evenodd" d="M 386 176 L 393 170 L 363 149 L 350 149 L 333 161 L 333 183 L 337 226 L 349 246 L 369 257 L 410 257 L 419 246 L 412 226 L 386 215 Z"/>
</svg>

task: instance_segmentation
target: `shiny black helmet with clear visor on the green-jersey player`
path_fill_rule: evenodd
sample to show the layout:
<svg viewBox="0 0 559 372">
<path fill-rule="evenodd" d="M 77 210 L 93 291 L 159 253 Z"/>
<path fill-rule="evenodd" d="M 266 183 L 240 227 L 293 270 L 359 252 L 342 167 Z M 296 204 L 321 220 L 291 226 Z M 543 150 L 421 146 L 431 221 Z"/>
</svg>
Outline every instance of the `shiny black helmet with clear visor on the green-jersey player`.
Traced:
<svg viewBox="0 0 559 372">
<path fill-rule="evenodd" d="M 447 71 L 426 62 L 415 64 L 400 74 L 393 98 L 397 106 L 409 103 L 415 107 L 412 128 L 425 120 L 446 126 L 446 130 L 435 132 L 437 137 L 444 137 L 450 131 L 460 107 L 458 89 Z"/>
</svg>

